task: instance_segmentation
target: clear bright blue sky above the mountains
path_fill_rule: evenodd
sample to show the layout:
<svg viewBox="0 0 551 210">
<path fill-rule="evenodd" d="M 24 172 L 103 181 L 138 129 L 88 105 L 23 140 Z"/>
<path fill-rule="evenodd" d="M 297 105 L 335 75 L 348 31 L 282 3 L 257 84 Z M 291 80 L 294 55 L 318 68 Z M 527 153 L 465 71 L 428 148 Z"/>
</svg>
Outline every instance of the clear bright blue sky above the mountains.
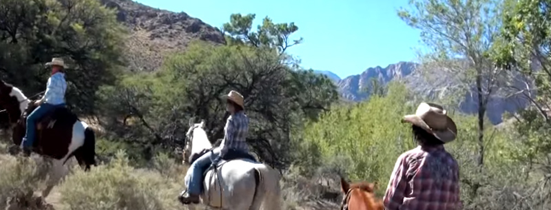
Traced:
<svg viewBox="0 0 551 210">
<path fill-rule="evenodd" d="M 295 22 L 304 43 L 289 52 L 302 59 L 302 67 L 329 70 L 341 78 L 368 67 L 386 67 L 414 61 L 419 32 L 396 15 L 408 0 L 138 0 L 147 6 L 186 12 L 215 27 L 232 13 L 256 14 L 256 25 L 266 16 L 275 23 Z"/>
</svg>

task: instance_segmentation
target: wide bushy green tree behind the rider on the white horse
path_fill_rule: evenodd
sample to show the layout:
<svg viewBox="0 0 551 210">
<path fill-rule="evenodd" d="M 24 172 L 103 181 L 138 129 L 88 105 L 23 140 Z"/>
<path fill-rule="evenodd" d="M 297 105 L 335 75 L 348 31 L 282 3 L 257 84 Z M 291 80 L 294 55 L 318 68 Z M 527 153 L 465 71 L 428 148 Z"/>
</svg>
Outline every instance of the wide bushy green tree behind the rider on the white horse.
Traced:
<svg viewBox="0 0 551 210">
<path fill-rule="evenodd" d="M 245 96 L 251 119 L 249 145 L 260 159 L 287 167 L 292 160 L 292 129 L 301 127 L 303 118 L 317 118 L 329 109 L 337 92 L 328 78 L 293 70 L 282 59 L 284 55 L 269 48 L 198 41 L 169 56 L 156 74 L 130 76 L 105 87 L 101 103 L 110 122 L 118 124 L 110 126 L 117 128 L 115 136 L 168 149 L 183 143 L 183 126 L 191 117 L 206 120 L 213 143 L 222 138 L 228 115 L 221 96 L 237 90 Z M 138 119 L 136 125 L 143 130 L 124 125 L 122 119 L 128 117 Z"/>
</svg>

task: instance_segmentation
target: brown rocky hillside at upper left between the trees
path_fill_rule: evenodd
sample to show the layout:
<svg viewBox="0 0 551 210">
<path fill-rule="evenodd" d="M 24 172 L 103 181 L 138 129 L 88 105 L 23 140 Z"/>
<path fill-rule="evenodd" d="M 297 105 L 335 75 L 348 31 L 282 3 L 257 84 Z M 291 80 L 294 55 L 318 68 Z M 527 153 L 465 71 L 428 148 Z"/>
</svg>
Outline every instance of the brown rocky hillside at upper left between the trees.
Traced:
<svg viewBox="0 0 551 210">
<path fill-rule="evenodd" d="M 118 21 L 128 29 L 125 59 L 132 71 L 156 70 L 167 53 L 185 50 L 193 40 L 225 43 L 220 30 L 185 12 L 159 10 L 131 0 L 101 3 L 116 8 Z"/>
</svg>

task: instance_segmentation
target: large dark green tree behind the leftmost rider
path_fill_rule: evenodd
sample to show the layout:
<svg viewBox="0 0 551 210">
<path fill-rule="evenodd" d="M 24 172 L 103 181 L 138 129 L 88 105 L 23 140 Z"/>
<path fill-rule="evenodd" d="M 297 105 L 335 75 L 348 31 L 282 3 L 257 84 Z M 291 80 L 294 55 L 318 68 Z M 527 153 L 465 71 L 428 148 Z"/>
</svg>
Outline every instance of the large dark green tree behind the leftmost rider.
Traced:
<svg viewBox="0 0 551 210">
<path fill-rule="evenodd" d="M 112 83 L 120 68 L 125 34 L 114 10 L 95 0 L 1 0 L 2 78 L 32 95 L 43 91 L 49 74 L 43 64 L 65 59 L 67 99 L 76 112 L 94 109 L 94 93 Z"/>
</svg>

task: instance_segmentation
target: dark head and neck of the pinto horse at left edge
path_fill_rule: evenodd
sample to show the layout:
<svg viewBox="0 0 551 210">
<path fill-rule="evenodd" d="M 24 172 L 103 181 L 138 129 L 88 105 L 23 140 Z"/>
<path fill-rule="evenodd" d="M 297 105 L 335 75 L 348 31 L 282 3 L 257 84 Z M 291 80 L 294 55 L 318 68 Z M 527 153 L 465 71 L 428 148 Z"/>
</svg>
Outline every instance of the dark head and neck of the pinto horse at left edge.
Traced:
<svg viewBox="0 0 551 210">
<path fill-rule="evenodd" d="M 17 87 L 0 81 L 0 125 L 4 129 L 17 123 L 28 105 L 27 97 Z"/>
</svg>

